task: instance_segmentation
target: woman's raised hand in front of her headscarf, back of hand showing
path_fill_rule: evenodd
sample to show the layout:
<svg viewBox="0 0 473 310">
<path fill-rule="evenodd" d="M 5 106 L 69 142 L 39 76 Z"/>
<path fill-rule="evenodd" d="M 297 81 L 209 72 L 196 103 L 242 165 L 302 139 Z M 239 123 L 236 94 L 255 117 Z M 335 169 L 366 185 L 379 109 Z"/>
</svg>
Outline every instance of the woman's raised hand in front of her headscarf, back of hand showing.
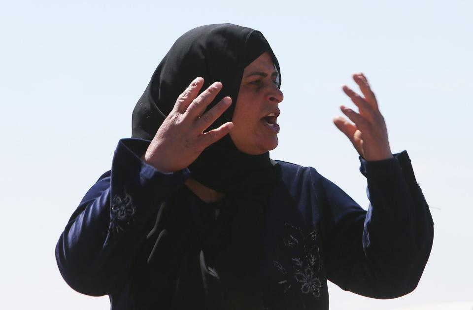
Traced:
<svg viewBox="0 0 473 310">
<path fill-rule="evenodd" d="M 204 113 L 207 105 L 222 89 L 222 83 L 213 83 L 197 96 L 202 86 L 203 78 L 198 77 L 177 98 L 174 108 L 143 155 L 147 164 L 161 172 L 184 169 L 192 164 L 207 146 L 223 138 L 233 128 L 233 123 L 227 122 L 217 129 L 203 132 L 230 106 L 232 99 L 225 97 Z"/>
</svg>

